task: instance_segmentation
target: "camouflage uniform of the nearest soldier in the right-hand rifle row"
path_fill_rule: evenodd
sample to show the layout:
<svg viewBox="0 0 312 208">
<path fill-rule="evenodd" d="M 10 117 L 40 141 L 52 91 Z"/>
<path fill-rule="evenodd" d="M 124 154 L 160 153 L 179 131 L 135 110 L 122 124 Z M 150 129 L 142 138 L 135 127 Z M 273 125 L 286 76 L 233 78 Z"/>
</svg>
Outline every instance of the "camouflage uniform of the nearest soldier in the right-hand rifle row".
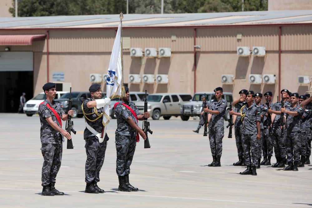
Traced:
<svg viewBox="0 0 312 208">
<path fill-rule="evenodd" d="M 286 114 L 285 128 L 286 128 L 286 152 L 287 163 L 293 161 L 300 161 L 300 134 L 303 109 L 300 105 L 296 105 L 294 108 L 288 109 L 293 112 L 297 112 L 297 116 L 291 116 Z"/>
</svg>

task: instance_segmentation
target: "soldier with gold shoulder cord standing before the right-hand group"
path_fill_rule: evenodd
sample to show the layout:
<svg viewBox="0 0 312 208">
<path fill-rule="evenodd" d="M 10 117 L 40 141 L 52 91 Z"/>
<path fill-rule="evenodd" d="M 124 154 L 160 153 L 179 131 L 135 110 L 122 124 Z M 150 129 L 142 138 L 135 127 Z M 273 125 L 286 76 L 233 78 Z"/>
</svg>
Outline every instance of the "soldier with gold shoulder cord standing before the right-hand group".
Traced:
<svg viewBox="0 0 312 208">
<path fill-rule="evenodd" d="M 258 140 L 261 138 L 260 132 L 260 106 L 253 103 L 255 99 L 255 93 L 248 91 L 246 93 L 246 105 L 241 107 L 241 117 L 243 118 L 243 126 L 241 129 L 241 142 L 244 150 L 244 157 L 247 169 L 244 172 L 240 172 L 241 175 L 253 175 L 256 176 L 256 167 L 258 166 L 259 148 Z M 239 115 L 239 113 L 230 112 L 233 115 Z M 251 162 L 252 159 L 252 162 Z"/>
</svg>

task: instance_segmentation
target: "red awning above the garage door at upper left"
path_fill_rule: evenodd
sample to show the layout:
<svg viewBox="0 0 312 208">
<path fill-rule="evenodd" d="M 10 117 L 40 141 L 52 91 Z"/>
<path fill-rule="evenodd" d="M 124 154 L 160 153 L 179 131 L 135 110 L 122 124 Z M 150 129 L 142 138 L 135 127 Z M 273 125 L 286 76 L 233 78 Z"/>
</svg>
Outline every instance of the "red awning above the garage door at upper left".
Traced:
<svg viewBox="0 0 312 208">
<path fill-rule="evenodd" d="M 29 46 L 32 41 L 41 41 L 46 35 L 0 35 L 0 46 Z"/>
</svg>

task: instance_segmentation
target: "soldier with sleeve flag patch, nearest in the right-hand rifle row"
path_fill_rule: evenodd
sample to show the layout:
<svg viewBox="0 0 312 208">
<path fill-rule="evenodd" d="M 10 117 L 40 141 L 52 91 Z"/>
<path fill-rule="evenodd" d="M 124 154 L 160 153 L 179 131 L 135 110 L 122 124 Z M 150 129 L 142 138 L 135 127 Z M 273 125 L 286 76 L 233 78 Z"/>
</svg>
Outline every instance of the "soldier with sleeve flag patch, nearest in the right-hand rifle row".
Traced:
<svg viewBox="0 0 312 208">
<path fill-rule="evenodd" d="M 290 94 L 291 109 L 284 107 L 281 112 L 285 113 L 285 129 L 286 129 L 286 152 L 287 163 L 284 171 L 298 171 L 298 163 L 300 162 L 300 135 L 302 125 L 303 108 L 298 105 L 299 94 Z M 288 110 L 289 109 L 289 110 Z"/>
</svg>

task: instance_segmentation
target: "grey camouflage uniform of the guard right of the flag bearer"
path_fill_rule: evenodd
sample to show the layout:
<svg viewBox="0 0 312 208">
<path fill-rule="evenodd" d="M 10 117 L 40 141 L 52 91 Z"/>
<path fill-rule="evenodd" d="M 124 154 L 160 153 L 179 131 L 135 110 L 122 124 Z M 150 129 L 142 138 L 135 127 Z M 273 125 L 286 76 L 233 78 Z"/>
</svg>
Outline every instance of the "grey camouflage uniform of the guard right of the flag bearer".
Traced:
<svg viewBox="0 0 312 208">
<path fill-rule="evenodd" d="M 138 124 L 137 119 L 127 109 L 120 100 L 119 104 L 115 107 L 115 114 L 117 117 L 117 129 L 115 131 L 115 143 L 117 150 L 117 160 L 116 160 L 116 172 L 118 176 L 125 176 L 130 173 L 130 165 L 132 163 L 135 147 L 136 147 L 136 135 L 137 132 L 130 124 L 126 121 L 130 117 L 136 124 Z M 127 104 L 127 103 L 125 103 Z M 127 104 L 135 114 L 141 115 L 136 105 L 133 102 Z"/>
</svg>

